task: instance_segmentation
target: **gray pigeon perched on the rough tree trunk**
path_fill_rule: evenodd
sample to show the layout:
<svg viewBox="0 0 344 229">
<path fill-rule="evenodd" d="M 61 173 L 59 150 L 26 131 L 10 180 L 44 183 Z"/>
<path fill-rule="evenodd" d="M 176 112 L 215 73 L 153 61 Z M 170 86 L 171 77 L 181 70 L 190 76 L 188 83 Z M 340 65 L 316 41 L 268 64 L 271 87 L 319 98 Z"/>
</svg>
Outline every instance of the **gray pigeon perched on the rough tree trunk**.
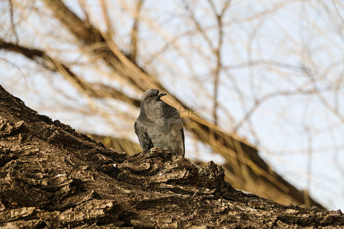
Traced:
<svg viewBox="0 0 344 229">
<path fill-rule="evenodd" d="M 183 123 L 178 110 L 162 101 L 166 93 L 148 89 L 141 97 L 140 115 L 135 133 L 142 150 L 153 147 L 170 150 L 172 155 L 185 154 Z"/>
</svg>

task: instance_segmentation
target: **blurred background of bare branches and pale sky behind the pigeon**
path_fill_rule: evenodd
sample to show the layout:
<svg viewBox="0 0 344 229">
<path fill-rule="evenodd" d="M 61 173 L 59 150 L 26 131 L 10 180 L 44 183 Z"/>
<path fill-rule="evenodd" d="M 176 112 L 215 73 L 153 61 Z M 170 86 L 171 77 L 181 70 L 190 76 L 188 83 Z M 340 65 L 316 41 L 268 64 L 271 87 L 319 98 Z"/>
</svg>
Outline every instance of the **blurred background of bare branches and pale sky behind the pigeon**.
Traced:
<svg viewBox="0 0 344 229">
<path fill-rule="evenodd" d="M 0 84 L 128 155 L 159 89 L 187 119 L 185 157 L 245 192 L 343 209 L 343 18 L 340 0 L 2 0 Z"/>
</svg>

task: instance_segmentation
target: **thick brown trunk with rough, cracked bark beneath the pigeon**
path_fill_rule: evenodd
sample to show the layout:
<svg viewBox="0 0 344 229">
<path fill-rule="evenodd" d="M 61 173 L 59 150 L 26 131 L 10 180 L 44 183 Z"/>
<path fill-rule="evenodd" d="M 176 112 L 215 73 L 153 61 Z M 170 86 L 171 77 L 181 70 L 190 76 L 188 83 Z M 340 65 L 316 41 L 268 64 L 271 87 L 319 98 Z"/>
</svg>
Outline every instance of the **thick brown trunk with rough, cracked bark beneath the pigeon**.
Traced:
<svg viewBox="0 0 344 229">
<path fill-rule="evenodd" d="M 131 157 L 0 86 L 0 228 L 343 228 L 341 210 L 235 190 L 221 166 L 159 148 Z"/>
</svg>

